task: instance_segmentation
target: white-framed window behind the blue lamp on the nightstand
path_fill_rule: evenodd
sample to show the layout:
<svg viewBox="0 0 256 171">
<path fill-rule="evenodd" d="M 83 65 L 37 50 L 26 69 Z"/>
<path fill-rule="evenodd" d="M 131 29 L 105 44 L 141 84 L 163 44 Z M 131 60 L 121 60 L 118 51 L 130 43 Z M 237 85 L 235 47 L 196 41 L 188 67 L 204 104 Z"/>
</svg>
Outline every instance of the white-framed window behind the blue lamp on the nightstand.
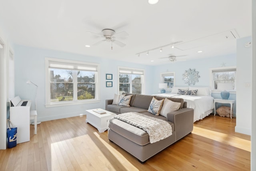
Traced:
<svg viewBox="0 0 256 171">
<path fill-rule="evenodd" d="M 236 90 L 236 66 L 211 68 L 210 74 L 212 91 L 221 90 L 224 84 L 229 87 L 226 90 Z"/>
</svg>

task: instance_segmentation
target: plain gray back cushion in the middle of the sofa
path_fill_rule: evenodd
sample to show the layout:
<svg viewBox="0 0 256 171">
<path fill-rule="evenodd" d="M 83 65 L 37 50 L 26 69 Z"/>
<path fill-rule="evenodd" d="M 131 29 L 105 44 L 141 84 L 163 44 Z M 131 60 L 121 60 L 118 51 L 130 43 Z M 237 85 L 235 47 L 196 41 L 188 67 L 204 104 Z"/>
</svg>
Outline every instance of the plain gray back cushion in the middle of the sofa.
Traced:
<svg viewBox="0 0 256 171">
<path fill-rule="evenodd" d="M 136 94 L 136 97 L 133 101 L 133 107 L 139 107 L 142 109 L 148 109 L 150 102 L 154 96 L 153 95 L 142 95 Z"/>
</svg>

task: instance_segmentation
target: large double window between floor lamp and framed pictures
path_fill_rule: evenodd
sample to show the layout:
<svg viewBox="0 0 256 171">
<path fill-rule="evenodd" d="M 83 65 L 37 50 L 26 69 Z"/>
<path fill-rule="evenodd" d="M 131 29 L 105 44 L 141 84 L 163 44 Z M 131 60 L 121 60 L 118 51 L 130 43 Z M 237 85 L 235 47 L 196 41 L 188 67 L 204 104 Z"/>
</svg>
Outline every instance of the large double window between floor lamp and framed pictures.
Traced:
<svg viewBox="0 0 256 171">
<path fill-rule="evenodd" d="M 98 100 L 98 64 L 46 58 L 46 107 Z"/>
</svg>

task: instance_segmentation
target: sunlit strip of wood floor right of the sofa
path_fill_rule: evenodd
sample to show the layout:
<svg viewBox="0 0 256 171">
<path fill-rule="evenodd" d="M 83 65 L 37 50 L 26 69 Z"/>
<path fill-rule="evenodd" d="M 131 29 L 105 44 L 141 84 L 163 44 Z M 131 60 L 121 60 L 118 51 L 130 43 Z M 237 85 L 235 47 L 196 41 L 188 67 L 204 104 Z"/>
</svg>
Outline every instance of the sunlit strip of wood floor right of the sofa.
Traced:
<svg viewBox="0 0 256 171">
<path fill-rule="evenodd" d="M 251 152 L 251 141 L 246 139 L 195 126 L 192 133 Z"/>
</svg>

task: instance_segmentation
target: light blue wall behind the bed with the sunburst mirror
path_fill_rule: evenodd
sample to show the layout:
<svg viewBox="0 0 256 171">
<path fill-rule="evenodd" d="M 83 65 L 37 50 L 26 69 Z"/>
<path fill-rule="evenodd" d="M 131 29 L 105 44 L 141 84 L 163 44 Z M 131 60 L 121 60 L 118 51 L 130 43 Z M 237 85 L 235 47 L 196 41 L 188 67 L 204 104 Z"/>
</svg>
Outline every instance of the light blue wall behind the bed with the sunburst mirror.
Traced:
<svg viewBox="0 0 256 171">
<path fill-rule="evenodd" d="M 183 74 L 189 68 L 196 69 L 199 72 L 199 81 L 195 85 L 195 87 L 209 87 L 210 86 L 210 68 L 221 67 L 222 64 L 225 66 L 236 66 L 236 54 L 231 54 L 227 56 L 216 56 L 212 58 L 203 58 L 198 60 L 188 60 L 184 62 L 170 62 L 165 65 L 155 66 L 154 67 L 154 93 L 157 93 L 158 83 L 161 82 L 160 73 L 161 72 L 176 72 L 176 86 L 188 86 L 185 84 L 183 79 Z M 212 93 L 212 97 L 221 99 L 220 93 Z M 229 99 L 236 100 L 236 94 L 230 94 Z M 223 104 L 222 104 L 223 105 Z M 236 103 L 234 104 L 234 116 L 236 116 Z"/>
</svg>

